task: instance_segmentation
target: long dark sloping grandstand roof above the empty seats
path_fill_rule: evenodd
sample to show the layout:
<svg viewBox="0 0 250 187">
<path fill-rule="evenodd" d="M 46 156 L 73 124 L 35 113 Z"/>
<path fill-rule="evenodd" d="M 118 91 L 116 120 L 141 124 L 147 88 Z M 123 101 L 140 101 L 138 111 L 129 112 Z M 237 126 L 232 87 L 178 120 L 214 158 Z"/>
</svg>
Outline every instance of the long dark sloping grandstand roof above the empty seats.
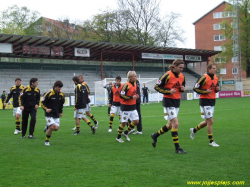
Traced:
<svg viewBox="0 0 250 187">
<path fill-rule="evenodd" d="M 214 56 L 220 51 L 187 49 L 174 47 L 157 47 L 146 45 L 131 45 L 108 42 L 93 42 L 83 40 L 44 38 L 35 36 L 19 36 L 0 34 L 0 43 L 13 44 L 13 53 L 1 53 L 0 57 L 16 58 L 47 58 L 47 59 L 68 59 L 68 60 L 95 60 L 95 61 L 141 61 L 142 53 L 175 54 L 175 55 L 199 55 L 203 61 Z M 52 56 L 51 54 L 25 54 L 23 46 L 46 46 L 63 47 L 62 56 Z M 90 49 L 90 57 L 74 55 L 75 48 Z M 184 59 L 184 58 L 183 58 Z"/>
</svg>

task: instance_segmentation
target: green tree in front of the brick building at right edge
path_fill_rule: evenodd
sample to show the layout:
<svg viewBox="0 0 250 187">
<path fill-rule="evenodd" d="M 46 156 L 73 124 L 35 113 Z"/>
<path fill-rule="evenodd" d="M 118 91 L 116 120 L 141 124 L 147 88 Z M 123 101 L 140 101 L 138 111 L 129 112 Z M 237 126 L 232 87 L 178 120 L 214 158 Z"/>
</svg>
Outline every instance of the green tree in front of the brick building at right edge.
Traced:
<svg viewBox="0 0 250 187">
<path fill-rule="evenodd" d="M 233 11 L 233 6 L 229 5 L 226 10 Z M 226 50 L 221 56 L 225 56 L 227 60 L 234 56 L 233 27 L 239 27 L 242 69 L 250 77 L 250 0 L 239 0 L 239 25 L 233 25 L 229 19 L 224 19 L 222 25 L 225 27 L 223 35 L 229 40 L 224 44 Z"/>
</svg>

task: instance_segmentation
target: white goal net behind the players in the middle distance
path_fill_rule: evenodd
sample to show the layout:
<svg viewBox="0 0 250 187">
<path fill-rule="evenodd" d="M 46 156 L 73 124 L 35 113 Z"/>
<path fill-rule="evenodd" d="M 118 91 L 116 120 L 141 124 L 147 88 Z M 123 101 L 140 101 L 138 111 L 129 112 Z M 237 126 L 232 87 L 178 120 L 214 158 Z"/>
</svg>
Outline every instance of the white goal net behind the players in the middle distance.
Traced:
<svg viewBox="0 0 250 187">
<path fill-rule="evenodd" d="M 157 78 L 138 78 L 140 83 L 140 89 L 145 83 L 146 87 L 149 89 L 149 102 L 159 102 L 162 100 L 162 94 L 159 94 L 155 91 L 154 87 L 157 83 Z M 107 105 L 108 104 L 108 91 L 104 88 L 109 82 L 115 83 L 115 78 L 105 78 L 102 81 L 95 82 L 95 105 Z M 124 84 L 127 82 L 127 78 L 122 78 L 121 83 Z M 142 93 L 141 93 L 142 98 Z"/>
</svg>

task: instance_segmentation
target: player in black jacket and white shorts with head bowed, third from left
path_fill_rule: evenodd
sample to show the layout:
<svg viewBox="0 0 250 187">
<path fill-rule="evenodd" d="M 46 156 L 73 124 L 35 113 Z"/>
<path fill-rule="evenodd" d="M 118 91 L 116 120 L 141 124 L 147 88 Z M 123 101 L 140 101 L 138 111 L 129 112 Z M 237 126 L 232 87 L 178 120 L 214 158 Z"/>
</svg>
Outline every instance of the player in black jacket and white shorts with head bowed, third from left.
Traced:
<svg viewBox="0 0 250 187">
<path fill-rule="evenodd" d="M 45 110 L 45 119 L 47 121 L 47 131 L 45 145 L 50 146 L 49 140 L 52 131 L 57 131 L 60 126 L 60 119 L 63 113 L 63 104 L 65 102 L 64 94 L 61 91 L 63 83 L 56 81 L 53 89 L 48 91 L 42 99 L 42 108 Z"/>
</svg>

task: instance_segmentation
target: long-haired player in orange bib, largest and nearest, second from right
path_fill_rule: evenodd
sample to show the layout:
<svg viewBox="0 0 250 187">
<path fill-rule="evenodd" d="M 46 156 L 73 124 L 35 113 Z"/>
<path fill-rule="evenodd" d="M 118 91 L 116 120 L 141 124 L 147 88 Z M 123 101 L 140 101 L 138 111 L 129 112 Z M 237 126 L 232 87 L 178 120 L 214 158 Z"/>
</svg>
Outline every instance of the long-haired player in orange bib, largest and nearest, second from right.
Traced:
<svg viewBox="0 0 250 187">
<path fill-rule="evenodd" d="M 155 90 L 163 94 L 162 105 L 164 108 L 164 118 L 168 120 L 168 124 L 164 125 L 158 132 L 151 135 L 153 147 L 156 147 L 157 138 L 171 130 L 172 139 L 175 145 L 176 153 L 187 153 L 179 145 L 178 137 L 178 113 L 180 107 L 181 92 L 185 90 L 185 77 L 181 73 L 184 68 L 184 62 L 180 59 L 173 61 L 167 71 L 160 77 L 155 85 Z"/>
</svg>

